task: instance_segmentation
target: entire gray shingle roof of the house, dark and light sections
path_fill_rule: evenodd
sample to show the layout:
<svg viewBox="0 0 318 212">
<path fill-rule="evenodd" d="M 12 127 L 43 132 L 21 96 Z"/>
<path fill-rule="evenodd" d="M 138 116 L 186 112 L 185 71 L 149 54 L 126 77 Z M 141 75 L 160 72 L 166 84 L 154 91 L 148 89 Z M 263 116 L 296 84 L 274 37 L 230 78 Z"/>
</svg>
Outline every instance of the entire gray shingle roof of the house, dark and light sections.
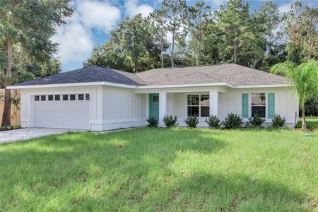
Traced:
<svg viewBox="0 0 318 212">
<path fill-rule="evenodd" d="M 141 73 L 129 73 L 99 66 L 59 73 L 18 83 L 15 86 L 110 82 L 130 86 L 163 86 L 196 83 L 230 83 L 233 86 L 256 86 L 285 84 L 285 78 L 275 74 L 251 69 L 237 64 L 213 66 L 190 66 L 152 69 Z"/>
</svg>

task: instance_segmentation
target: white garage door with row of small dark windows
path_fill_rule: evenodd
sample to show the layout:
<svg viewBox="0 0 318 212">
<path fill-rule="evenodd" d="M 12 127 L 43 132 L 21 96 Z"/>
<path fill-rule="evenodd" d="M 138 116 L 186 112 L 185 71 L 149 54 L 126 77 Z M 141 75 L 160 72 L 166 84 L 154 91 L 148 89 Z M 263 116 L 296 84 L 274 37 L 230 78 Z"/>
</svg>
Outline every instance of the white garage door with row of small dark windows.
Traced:
<svg viewBox="0 0 318 212">
<path fill-rule="evenodd" d="M 35 95 L 33 115 L 35 127 L 90 129 L 90 96 Z"/>
</svg>

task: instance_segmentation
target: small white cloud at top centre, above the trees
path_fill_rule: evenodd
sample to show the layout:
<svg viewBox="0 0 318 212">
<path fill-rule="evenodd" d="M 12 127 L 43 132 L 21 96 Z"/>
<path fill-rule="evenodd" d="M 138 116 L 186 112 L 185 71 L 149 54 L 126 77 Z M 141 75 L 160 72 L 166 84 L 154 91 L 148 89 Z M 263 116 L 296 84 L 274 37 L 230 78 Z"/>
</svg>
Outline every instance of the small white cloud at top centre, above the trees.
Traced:
<svg viewBox="0 0 318 212">
<path fill-rule="evenodd" d="M 125 2 L 124 8 L 126 10 L 126 16 L 133 17 L 138 13 L 145 18 L 149 13 L 153 12 L 153 7 L 148 4 L 138 5 L 138 1 L 128 0 Z"/>
</svg>

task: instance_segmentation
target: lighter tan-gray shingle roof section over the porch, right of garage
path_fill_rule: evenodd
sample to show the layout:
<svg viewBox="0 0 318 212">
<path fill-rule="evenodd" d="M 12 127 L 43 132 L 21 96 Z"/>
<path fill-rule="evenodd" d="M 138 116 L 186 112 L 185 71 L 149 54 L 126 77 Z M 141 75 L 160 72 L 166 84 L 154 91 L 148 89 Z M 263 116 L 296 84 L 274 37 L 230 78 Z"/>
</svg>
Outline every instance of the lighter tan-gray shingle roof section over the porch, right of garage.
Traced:
<svg viewBox="0 0 318 212">
<path fill-rule="evenodd" d="M 283 76 L 237 64 L 153 69 L 137 75 L 148 86 L 196 83 L 230 83 L 232 86 L 285 84 Z"/>
</svg>

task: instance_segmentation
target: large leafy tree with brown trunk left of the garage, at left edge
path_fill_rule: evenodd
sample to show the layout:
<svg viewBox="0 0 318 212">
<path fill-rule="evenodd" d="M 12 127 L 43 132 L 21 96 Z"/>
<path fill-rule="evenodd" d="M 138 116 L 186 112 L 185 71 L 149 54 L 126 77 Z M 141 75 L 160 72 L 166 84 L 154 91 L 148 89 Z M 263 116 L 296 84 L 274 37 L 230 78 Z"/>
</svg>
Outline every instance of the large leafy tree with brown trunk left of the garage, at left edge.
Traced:
<svg viewBox="0 0 318 212">
<path fill-rule="evenodd" d="M 4 86 L 10 86 L 12 47 L 19 44 L 26 53 L 45 60 L 57 50 L 52 42 L 56 27 L 70 16 L 69 1 L 11 1 L 1 0 L 0 35 L 6 43 L 6 78 Z M 2 126 L 11 125 L 11 92 L 6 89 Z"/>
</svg>

